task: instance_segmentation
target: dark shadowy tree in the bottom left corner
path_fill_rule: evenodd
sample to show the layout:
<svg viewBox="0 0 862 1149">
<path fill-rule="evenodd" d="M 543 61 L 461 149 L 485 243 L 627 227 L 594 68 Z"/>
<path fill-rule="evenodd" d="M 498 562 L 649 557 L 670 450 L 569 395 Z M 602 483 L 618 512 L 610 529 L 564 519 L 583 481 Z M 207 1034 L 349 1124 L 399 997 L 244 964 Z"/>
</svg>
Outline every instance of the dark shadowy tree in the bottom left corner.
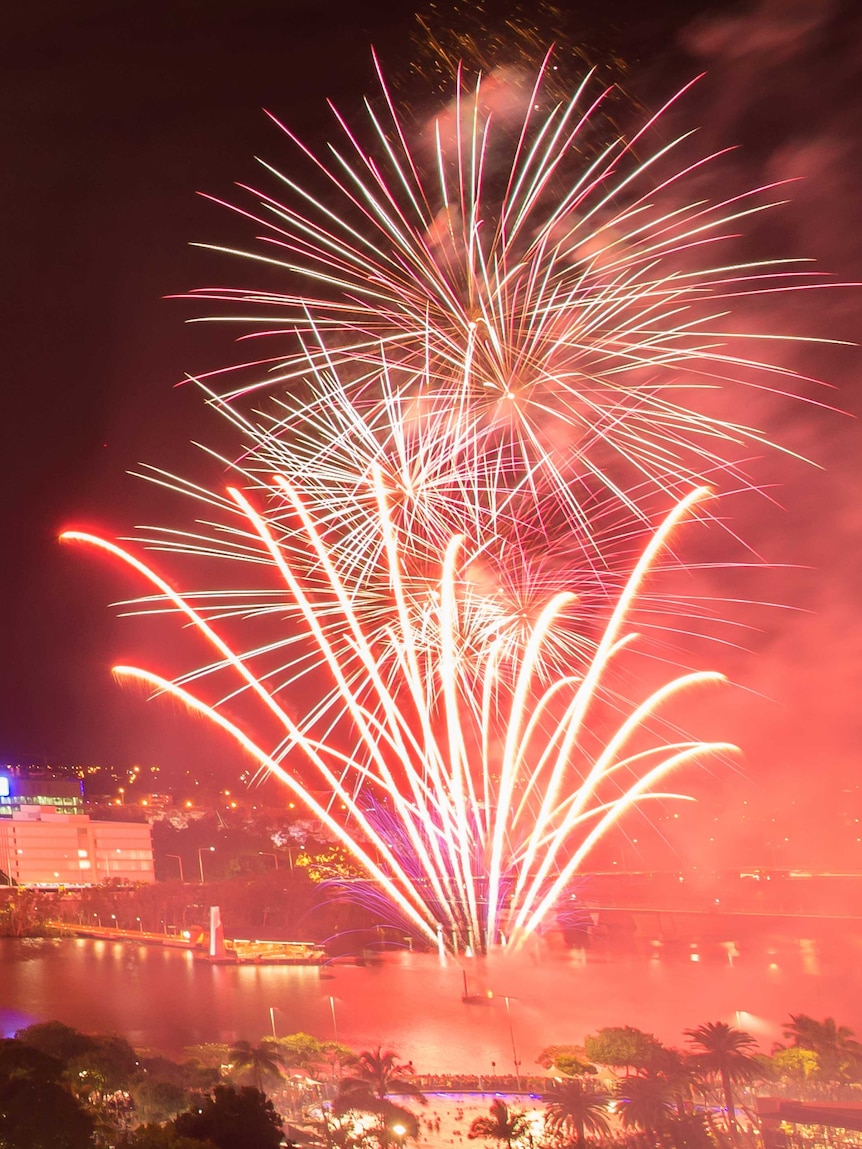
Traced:
<svg viewBox="0 0 862 1149">
<path fill-rule="evenodd" d="M 55 1081 L 13 1078 L 0 1086 L 3 1149 L 88 1149 L 93 1120 Z"/>
</svg>

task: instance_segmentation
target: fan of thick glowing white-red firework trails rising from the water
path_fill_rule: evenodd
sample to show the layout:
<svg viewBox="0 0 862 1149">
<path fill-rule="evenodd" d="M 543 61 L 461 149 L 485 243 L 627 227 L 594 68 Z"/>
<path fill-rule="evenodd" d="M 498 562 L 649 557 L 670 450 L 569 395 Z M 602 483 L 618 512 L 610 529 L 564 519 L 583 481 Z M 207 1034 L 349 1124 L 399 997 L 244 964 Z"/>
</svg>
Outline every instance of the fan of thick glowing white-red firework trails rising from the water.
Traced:
<svg viewBox="0 0 862 1149">
<path fill-rule="evenodd" d="M 107 550 L 143 574 L 216 648 L 222 664 L 239 676 L 244 688 L 278 718 L 287 734 L 286 747 L 276 761 L 224 716 L 223 702 L 201 697 L 200 686 L 191 692 L 179 681 L 130 666 L 117 669 L 117 673 L 154 686 L 207 716 L 259 764 L 276 772 L 428 940 L 437 936 L 438 925 L 446 925 L 461 944 L 475 948 L 490 947 L 501 935 L 522 941 L 561 896 L 571 871 L 571 857 L 583 858 L 602 830 L 645 799 L 672 796 L 657 794 L 656 789 L 675 765 L 729 749 L 723 743 L 690 742 L 684 747 L 660 745 L 622 756 L 636 732 L 645 734 L 645 719 L 661 710 L 675 694 L 695 684 L 719 680 L 721 676 L 710 673 L 683 676 L 655 692 L 626 717 L 597 761 L 591 762 L 577 746 L 587 712 L 600 704 L 609 664 L 631 640 L 631 635 L 622 637 L 619 631 L 639 583 L 694 498 L 680 504 L 656 532 L 653 545 L 632 572 L 608 631 L 582 673 L 544 685 L 537 680 L 541 646 L 547 642 L 548 630 L 562 607 L 561 596 L 556 596 L 532 630 L 529 649 L 516 651 L 519 654 L 516 665 L 499 638 L 490 640 L 478 686 L 486 702 L 476 709 L 464 704 L 465 699 L 476 697 L 477 681 L 475 660 L 464 650 L 457 620 L 461 540 L 455 538 L 444 548 L 432 608 L 438 614 L 439 639 L 432 646 L 415 632 L 413 620 L 417 616 L 408 604 L 409 589 L 402 580 L 401 561 L 380 491 L 379 531 L 385 540 L 397 603 L 386 641 L 379 633 L 367 635 L 362 631 L 349 592 L 326 561 L 325 543 L 301 496 L 283 478 L 274 481 L 274 488 L 292 500 L 302 520 L 309 550 L 321 560 L 330 586 L 331 602 L 324 615 L 334 609 L 344 614 L 344 626 L 353 635 L 363 677 L 348 677 L 333 654 L 321 624 L 320 607 L 311 603 L 301 577 L 280 552 L 265 516 L 240 492 L 230 494 L 300 607 L 306 639 L 329 669 L 344 719 L 349 720 L 355 735 L 353 754 L 338 750 L 331 738 L 320 738 L 313 720 L 291 718 L 279 692 L 268 689 L 262 676 L 253 669 L 253 660 L 236 654 L 200 610 L 130 552 L 82 532 L 68 532 L 64 538 Z M 393 651 L 398 673 L 384 677 Z M 562 716 L 554 717 L 560 710 L 557 695 L 565 692 L 572 697 L 563 707 Z M 533 708 L 531 719 L 526 718 L 528 702 Z M 506 748 L 498 762 L 493 748 L 501 732 Z M 480 756 L 476 747 L 483 748 Z M 303 785 L 293 769 L 285 766 L 291 751 L 305 757 L 317 776 L 316 785 Z M 646 773 L 633 770 L 641 759 L 656 755 L 661 762 L 652 764 Z M 563 771 L 568 777 L 564 786 Z M 618 774 L 630 777 L 619 785 L 617 794 L 609 796 L 602 786 Z M 314 799 L 311 791 L 320 785 L 347 809 L 355 832 L 348 832 Z M 401 842 L 382 832 L 369 815 L 369 800 L 364 796 L 369 791 L 398 818 L 403 832 Z M 539 856 L 541 863 L 537 864 Z"/>
</svg>

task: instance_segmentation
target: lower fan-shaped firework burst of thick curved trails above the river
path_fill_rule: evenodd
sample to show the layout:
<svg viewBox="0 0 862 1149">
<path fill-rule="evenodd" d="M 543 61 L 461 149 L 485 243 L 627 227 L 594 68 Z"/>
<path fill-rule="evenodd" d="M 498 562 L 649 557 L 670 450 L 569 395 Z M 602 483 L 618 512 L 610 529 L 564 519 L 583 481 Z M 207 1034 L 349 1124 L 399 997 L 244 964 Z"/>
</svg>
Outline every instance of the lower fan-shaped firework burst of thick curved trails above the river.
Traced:
<svg viewBox="0 0 862 1149">
<path fill-rule="evenodd" d="M 706 672 L 678 677 L 629 707 L 598 751 L 588 749 L 586 737 L 594 712 L 613 694 L 611 668 L 634 639 L 625 631 L 634 597 L 674 526 L 703 491 L 683 500 L 654 533 L 598 642 L 583 645 L 567 674 L 549 676 L 542 669 L 545 648 L 570 595 L 554 595 L 534 623 L 515 632 L 500 618 L 464 627 L 464 615 L 476 604 L 464 577 L 463 538 L 448 540 L 437 584 L 417 596 L 416 584 L 405 578 L 377 472 L 378 530 L 392 596 L 387 626 L 369 633 L 353 607 L 353 587 L 337 571 L 302 496 L 283 477 L 274 489 L 302 525 L 306 570 L 318 573 L 309 587 L 267 516 L 240 491 L 229 491 L 247 522 L 248 540 L 256 538 L 303 623 L 301 634 L 294 627 L 287 642 L 256 650 L 236 653 L 220 633 L 210 616 L 224 610 L 223 596 L 214 606 L 209 595 L 183 595 L 129 550 L 94 535 L 63 538 L 106 550 L 148 579 L 157 601 L 192 623 L 214 649 L 207 672 L 232 672 L 238 687 L 276 719 L 280 742 L 267 750 L 228 717 L 234 691 L 206 701 L 200 670 L 174 681 L 133 666 L 117 666 L 115 673 L 171 695 L 226 731 L 302 800 L 428 941 L 442 932 L 447 943 L 475 950 L 498 941 L 521 943 L 624 813 L 648 799 L 678 797 L 661 789 L 676 768 L 732 751 L 715 742 L 649 743 L 651 722 L 674 696 L 721 680 Z M 245 606 L 240 595 L 238 607 Z M 290 650 L 298 641 L 302 655 L 280 662 L 285 646 Z M 298 720 L 292 703 L 303 660 L 331 685 Z M 302 673 L 309 673 L 308 662 Z M 618 709 L 621 700 L 614 701 Z M 297 769 L 297 758 L 305 770 Z M 308 771 L 313 780 L 300 781 Z M 315 796 L 321 791 L 330 795 L 325 802 Z M 336 816 L 333 808 L 344 812 Z"/>
</svg>

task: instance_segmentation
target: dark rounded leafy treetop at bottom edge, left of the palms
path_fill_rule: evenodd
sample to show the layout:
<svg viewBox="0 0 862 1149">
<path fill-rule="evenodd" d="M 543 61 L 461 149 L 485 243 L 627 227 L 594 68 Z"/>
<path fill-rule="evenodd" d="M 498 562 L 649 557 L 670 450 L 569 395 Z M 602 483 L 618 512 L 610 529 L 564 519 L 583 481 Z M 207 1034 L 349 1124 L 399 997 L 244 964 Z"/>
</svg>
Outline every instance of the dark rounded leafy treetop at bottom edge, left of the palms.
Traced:
<svg viewBox="0 0 862 1149">
<path fill-rule="evenodd" d="M 282 1142 L 272 1102 L 248 1086 L 216 1086 L 197 1109 L 175 1118 L 174 1128 L 180 1136 L 211 1141 L 216 1149 L 278 1149 Z"/>
</svg>

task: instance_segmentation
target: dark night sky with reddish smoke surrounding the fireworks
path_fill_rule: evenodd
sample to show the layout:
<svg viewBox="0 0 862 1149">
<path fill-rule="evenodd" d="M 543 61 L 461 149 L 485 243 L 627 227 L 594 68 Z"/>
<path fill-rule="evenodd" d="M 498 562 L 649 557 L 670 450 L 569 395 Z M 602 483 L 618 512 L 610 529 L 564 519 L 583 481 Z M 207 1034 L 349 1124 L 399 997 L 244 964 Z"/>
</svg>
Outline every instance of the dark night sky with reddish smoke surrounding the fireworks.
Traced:
<svg viewBox="0 0 862 1149">
<path fill-rule="evenodd" d="M 763 238 L 838 278 L 862 277 L 853 0 L 568 7 L 585 43 L 626 61 L 646 102 L 706 68 L 680 122 L 702 125 L 707 146 L 740 145 L 733 163 L 748 182 L 803 177 Z M 190 438 L 218 433 L 191 388 L 174 385 L 230 362 L 231 334 L 185 324 L 194 308 L 163 299 L 236 282 L 231 265 L 188 247 L 237 233 L 195 192 L 230 194 L 256 177 L 253 156 L 284 159 L 263 107 L 322 139 L 325 99 L 355 108 L 372 86 L 369 46 L 398 67 L 413 28 L 409 3 L 344 0 L 36 0 L 5 11 L 0 762 L 238 772 L 220 740 L 111 681 L 110 664 L 140 657 L 147 642 L 107 608 L 134 588 L 56 535 L 164 519 L 167 502 L 128 469 L 146 461 L 188 473 Z M 847 291 L 768 319 L 854 339 L 859 313 Z M 837 407 L 862 408 L 856 352 L 801 350 L 793 365 L 836 384 Z M 746 537 L 777 564 L 760 593 L 796 609 L 763 615 L 747 640 L 756 653 L 728 657 L 747 688 L 726 703 L 728 732 L 747 759 L 744 774 L 710 784 L 710 797 L 796 820 L 805 803 L 811 820 L 793 833 L 826 842 L 833 819 L 846 823 L 853 803 L 860 813 L 859 792 L 847 793 L 862 742 L 860 433 L 849 418 L 792 404 L 747 417 L 828 470 L 780 464 L 782 508 L 742 512 Z"/>
</svg>

